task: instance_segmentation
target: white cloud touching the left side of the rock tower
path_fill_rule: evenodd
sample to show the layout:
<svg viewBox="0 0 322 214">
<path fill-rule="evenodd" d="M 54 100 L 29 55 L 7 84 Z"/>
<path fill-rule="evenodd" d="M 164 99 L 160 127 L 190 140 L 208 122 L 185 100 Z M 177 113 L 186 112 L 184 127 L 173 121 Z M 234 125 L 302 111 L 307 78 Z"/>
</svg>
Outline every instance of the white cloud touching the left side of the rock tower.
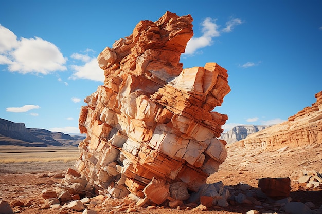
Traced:
<svg viewBox="0 0 322 214">
<path fill-rule="evenodd" d="M 84 65 L 72 65 L 71 67 L 76 71 L 70 77 L 73 80 L 87 79 L 104 82 L 104 71 L 98 66 L 97 59 L 94 57 Z"/>
</svg>

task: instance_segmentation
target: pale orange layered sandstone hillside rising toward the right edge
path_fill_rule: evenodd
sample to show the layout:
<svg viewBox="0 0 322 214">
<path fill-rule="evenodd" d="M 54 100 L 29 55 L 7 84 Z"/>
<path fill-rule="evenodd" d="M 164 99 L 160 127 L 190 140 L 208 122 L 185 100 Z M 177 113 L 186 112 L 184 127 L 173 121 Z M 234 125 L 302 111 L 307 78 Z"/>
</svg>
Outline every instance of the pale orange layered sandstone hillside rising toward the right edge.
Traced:
<svg viewBox="0 0 322 214">
<path fill-rule="evenodd" d="M 310 144 L 322 144 L 322 91 L 315 94 L 316 102 L 289 120 L 249 135 L 236 142 L 242 147 L 264 147 L 279 149 L 285 146 L 298 147 Z"/>
</svg>

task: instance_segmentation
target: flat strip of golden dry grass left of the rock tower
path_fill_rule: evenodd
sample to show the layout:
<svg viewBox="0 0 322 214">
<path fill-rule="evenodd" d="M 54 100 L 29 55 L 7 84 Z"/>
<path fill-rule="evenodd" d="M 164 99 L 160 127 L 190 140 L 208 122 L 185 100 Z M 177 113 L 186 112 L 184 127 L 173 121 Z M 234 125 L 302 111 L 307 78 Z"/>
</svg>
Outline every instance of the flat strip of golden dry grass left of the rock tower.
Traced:
<svg viewBox="0 0 322 214">
<path fill-rule="evenodd" d="M 30 163 L 75 161 L 79 157 L 77 147 L 23 147 L 0 146 L 0 163 Z"/>
</svg>

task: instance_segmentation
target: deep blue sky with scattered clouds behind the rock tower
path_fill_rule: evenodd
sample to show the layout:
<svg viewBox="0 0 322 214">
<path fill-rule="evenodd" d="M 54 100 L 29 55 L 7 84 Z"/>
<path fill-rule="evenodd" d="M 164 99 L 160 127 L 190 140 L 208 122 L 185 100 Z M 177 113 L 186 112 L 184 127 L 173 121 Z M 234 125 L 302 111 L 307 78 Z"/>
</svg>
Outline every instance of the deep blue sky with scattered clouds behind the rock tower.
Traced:
<svg viewBox="0 0 322 214">
<path fill-rule="evenodd" d="M 238 124 L 276 124 L 322 90 L 322 1 L 0 0 L 0 118 L 78 133 L 84 98 L 102 85 L 96 57 L 140 20 L 193 18 L 184 68 L 217 62 L 231 92 L 214 110 Z"/>
</svg>

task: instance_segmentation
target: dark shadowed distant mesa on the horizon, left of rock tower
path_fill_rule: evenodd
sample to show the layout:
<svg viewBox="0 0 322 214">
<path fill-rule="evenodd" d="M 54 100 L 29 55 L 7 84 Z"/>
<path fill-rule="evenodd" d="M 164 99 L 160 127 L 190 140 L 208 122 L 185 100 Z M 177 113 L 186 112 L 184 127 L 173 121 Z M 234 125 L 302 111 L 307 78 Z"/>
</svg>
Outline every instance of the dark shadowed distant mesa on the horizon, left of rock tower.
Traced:
<svg viewBox="0 0 322 214">
<path fill-rule="evenodd" d="M 26 128 L 24 123 L 14 123 L 0 118 L 0 145 L 77 146 L 84 138 L 46 129 Z"/>
</svg>

